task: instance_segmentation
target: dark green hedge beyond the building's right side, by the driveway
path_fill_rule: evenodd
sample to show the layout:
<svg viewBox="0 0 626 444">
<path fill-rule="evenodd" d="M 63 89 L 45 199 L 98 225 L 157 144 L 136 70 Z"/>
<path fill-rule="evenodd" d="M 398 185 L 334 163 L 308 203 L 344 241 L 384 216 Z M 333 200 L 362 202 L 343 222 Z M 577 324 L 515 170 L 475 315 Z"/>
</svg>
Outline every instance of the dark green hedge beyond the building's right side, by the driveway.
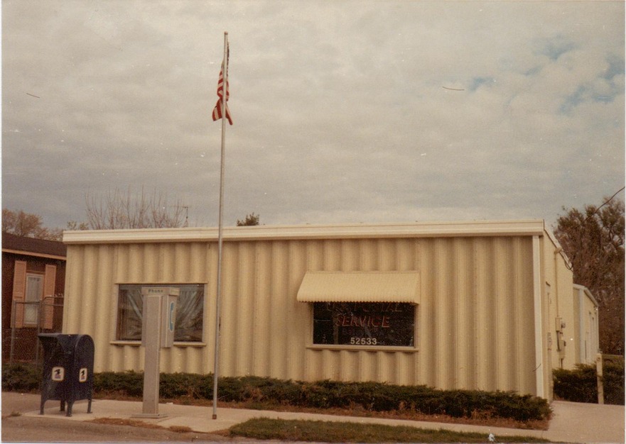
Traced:
<svg viewBox="0 0 626 444">
<path fill-rule="evenodd" d="M 554 370 L 554 396 L 573 402 L 598 403 L 595 365 L 578 364 L 574 370 Z M 603 365 L 605 404 L 624 405 L 624 360 Z"/>
</svg>

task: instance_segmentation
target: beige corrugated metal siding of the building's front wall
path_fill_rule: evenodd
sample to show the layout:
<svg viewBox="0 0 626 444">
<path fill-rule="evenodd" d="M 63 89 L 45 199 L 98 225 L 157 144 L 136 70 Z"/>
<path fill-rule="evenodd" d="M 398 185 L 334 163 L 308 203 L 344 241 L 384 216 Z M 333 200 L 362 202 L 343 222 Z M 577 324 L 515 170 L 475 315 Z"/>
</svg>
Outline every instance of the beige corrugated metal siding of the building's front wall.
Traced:
<svg viewBox="0 0 626 444">
<path fill-rule="evenodd" d="M 226 241 L 223 259 L 222 375 L 534 392 L 528 236 Z M 205 283 L 204 346 L 163 350 L 161 371 L 211 372 L 216 270 L 214 241 L 68 245 L 63 330 L 93 336 L 96 372 L 141 370 L 142 348 L 112 344 L 116 284 Z M 416 350 L 311 346 L 309 270 L 418 270 Z"/>
</svg>

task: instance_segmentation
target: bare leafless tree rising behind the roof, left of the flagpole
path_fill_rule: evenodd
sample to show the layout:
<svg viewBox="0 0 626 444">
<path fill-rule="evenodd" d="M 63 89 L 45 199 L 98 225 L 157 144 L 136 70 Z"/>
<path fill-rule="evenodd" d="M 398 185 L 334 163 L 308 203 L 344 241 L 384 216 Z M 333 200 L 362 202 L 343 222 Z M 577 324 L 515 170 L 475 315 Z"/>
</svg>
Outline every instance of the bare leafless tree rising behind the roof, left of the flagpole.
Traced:
<svg viewBox="0 0 626 444">
<path fill-rule="evenodd" d="M 147 194 L 144 187 L 133 194 L 120 189 L 104 196 L 85 195 L 87 224 L 93 230 L 124 228 L 176 228 L 185 222 L 185 206 L 179 199 L 170 204 L 163 192 Z"/>
</svg>

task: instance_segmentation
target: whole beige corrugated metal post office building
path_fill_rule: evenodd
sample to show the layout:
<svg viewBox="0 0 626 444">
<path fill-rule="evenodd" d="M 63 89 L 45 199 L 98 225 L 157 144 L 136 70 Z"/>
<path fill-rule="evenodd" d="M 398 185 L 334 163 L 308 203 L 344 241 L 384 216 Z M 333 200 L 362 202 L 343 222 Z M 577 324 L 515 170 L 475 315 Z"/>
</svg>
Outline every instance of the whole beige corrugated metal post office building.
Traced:
<svg viewBox="0 0 626 444">
<path fill-rule="evenodd" d="M 581 353 L 583 333 L 562 357 L 554 344 L 566 312 L 557 307 L 576 298 L 543 221 L 254 226 L 225 228 L 223 238 L 221 375 L 551 398 L 552 367 Z M 63 240 L 63 331 L 92 335 L 96 372 L 143 369 L 138 295 L 155 285 L 181 294 L 161 371 L 212 372 L 217 229 L 71 231 Z"/>
</svg>

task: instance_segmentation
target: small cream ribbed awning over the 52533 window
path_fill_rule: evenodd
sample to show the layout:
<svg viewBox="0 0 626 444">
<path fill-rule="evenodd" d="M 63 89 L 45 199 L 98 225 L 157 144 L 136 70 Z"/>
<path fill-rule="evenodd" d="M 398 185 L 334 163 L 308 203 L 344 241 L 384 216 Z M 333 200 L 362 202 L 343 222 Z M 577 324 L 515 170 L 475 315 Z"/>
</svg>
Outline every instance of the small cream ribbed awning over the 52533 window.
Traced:
<svg viewBox="0 0 626 444">
<path fill-rule="evenodd" d="M 306 272 L 300 302 L 406 302 L 419 304 L 419 273 Z"/>
</svg>

